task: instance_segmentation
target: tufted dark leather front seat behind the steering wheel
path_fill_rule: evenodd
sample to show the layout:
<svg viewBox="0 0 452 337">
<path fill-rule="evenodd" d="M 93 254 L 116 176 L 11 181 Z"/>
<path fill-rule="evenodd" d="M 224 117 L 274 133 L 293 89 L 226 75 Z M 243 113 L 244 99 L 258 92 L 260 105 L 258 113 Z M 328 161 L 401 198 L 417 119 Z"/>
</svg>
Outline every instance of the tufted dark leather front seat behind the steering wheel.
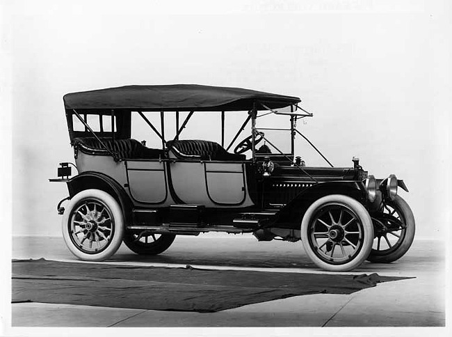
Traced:
<svg viewBox="0 0 452 337">
<path fill-rule="evenodd" d="M 211 160 L 245 160 L 245 155 L 235 155 L 227 152 L 220 144 L 214 141 L 201 141 L 197 139 L 168 141 L 176 157 L 183 159 L 211 159 Z"/>
</svg>

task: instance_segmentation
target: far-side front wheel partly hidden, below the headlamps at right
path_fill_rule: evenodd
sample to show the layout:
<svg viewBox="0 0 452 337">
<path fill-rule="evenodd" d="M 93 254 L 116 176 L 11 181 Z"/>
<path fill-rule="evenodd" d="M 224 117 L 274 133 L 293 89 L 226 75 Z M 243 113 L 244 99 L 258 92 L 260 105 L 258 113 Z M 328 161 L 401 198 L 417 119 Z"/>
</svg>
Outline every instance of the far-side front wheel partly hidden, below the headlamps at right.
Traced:
<svg viewBox="0 0 452 337">
<path fill-rule="evenodd" d="M 381 212 L 373 214 L 372 221 L 375 239 L 367 260 L 389 263 L 404 256 L 415 232 L 414 216 L 406 201 L 400 196 L 384 201 Z"/>
</svg>

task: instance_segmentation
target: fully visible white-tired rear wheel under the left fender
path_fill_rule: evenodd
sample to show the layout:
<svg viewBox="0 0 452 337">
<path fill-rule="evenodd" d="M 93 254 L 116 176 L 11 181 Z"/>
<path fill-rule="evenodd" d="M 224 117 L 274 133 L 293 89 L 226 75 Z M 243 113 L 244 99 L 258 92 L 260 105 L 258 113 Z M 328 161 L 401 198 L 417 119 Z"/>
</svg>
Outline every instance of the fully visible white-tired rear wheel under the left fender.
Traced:
<svg viewBox="0 0 452 337">
<path fill-rule="evenodd" d="M 99 189 L 86 189 L 67 204 L 61 221 L 67 248 L 84 261 L 102 261 L 118 251 L 124 217 L 117 201 Z"/>
</svg>

